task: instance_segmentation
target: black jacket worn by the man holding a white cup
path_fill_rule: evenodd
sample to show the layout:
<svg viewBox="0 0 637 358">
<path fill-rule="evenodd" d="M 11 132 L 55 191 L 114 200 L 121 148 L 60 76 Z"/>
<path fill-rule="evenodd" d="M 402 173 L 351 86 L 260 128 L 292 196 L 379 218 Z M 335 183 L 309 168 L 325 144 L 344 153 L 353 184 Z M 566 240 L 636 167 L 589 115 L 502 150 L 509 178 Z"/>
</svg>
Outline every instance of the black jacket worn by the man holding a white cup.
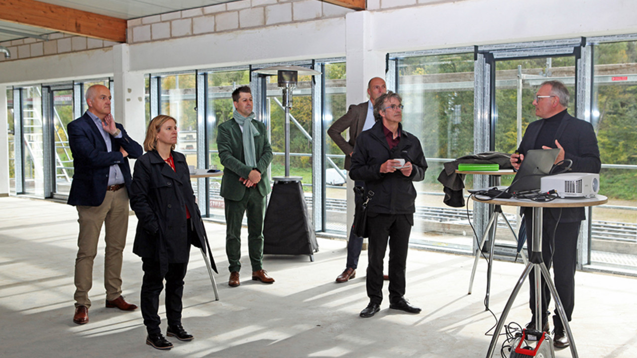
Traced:
<svg viewBox="0 0 637 358">
<path fill-rule="evenodd" d="M 382 120 L 376 121 L 371 129 L 363 131 L 356 139 L 350 178 L 362 180 L 365 187 L 374 192 L 368 204 L 368 213 L 412 214 L 416 211 L 416 189 L 413 182 L 425 177 L 427 161 L 420 141 L 413 134 L 401 131 L 400 141 L 389 149 Z M 380 166 L 389 159 L 401 159 L 412 163 L 412 174 L 404 176 L 401 171 L 380 173 Z"/>
</svg>

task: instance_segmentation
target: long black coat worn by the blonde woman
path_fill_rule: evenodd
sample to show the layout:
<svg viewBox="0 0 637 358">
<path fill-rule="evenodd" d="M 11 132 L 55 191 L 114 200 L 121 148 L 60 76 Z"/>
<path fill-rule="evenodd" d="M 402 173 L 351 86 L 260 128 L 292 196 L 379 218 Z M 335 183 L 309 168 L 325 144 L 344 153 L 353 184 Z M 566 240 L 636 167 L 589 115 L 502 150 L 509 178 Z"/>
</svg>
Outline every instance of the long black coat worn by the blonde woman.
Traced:
<svg viewBox="0 0 637 358">
<path fill-rule="evenodd" d="M 135 162 L 131 185 L 131 208 L 138 218 L 132 252 L 140 257 L 169 263 L 188 262 L 190 244 L 208 248 L 206 230 L 190 185 L 188 164 L 183 154 L 171 152 L 175 171 L 155 150 Z M 190 212 L 193 237 L 188 237 L 186 207 Z"/>
</svg>

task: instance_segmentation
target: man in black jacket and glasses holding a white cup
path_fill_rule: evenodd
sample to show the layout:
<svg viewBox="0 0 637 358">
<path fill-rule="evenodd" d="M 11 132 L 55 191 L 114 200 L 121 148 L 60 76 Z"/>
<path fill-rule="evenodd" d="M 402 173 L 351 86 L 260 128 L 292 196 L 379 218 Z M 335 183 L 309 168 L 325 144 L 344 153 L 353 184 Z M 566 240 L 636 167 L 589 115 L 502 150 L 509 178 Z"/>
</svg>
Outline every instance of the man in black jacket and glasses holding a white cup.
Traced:
<svg viewBox="0 0 637 358">
<path fill-rule="evenodd" d="M 389 308 L 420 313 L 404 298 L 409 236 L 413 226 L 416 189 L 425 177 L 427 161 L 420 141 L 403 131 L 401 97 L 387 92 L 376 99 L 377 121 L 356 140 L 350 177 L 374 192 L 368 203 L 368 306 L 361 317 L 371 317 L 383 300 L 383 258 L 389 241 Z"/>
</svg>

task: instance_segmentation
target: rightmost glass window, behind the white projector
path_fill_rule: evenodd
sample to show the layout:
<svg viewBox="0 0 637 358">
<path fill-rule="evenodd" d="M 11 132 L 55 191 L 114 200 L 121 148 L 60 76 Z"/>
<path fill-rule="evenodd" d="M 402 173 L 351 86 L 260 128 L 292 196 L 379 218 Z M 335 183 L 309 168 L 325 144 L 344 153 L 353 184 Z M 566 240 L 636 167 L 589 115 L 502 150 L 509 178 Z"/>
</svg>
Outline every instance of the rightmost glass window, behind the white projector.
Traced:
<svg viewBox="0 0 637 358">
<path fill-rule="evenodd" d="M 637 41 L 594 46 L 591 120 L 602 169 L 599 192 L 608 204 L 593 208 L 590 260 L 637 268 Z"/>
</svg>

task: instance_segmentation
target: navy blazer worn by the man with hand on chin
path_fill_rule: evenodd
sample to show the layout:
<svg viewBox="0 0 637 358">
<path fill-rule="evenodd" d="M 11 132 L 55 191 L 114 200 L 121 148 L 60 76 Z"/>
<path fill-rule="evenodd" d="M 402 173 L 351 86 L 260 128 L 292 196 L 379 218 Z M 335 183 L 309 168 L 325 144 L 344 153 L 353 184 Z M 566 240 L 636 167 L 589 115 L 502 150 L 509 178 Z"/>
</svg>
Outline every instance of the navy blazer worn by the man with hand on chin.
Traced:
<svg viewBox="0 0 637 358">
<path fill-rule="evenodd" d="M 143 151 L 139 143 L 128 136 L 124 126 L 118 123 L 115 125 L 122 131 L 122 138 L 111 136 L 111 152 L 106 151 L 106 142 L 89 113 L 84 113 L 67 125 L 75 168 L 68 204 L 101 205 L 106 196 L 108 171 L 113 164 L 118 164 L 124 175 L 126 189 L 131 191 L 131 167 L 128 159 L 140 157 Z M 120 147 L 124 147 L 128 157 L 124 158 L 119 151 Z"/>
</svg>

